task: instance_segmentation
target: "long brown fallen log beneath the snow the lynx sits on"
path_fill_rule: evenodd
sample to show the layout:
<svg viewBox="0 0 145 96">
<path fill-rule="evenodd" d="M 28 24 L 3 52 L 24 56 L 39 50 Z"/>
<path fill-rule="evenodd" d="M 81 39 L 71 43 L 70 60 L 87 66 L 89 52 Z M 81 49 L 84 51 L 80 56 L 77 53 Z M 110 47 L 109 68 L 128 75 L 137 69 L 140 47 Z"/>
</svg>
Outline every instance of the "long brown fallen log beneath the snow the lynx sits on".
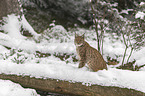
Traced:
<svg viewBox="0 0 145 96">
<path fill-rule="evenodd" d="M 11 80 L 26 88 L 40 91 L 55 92 L 75 96 L 145 96 L 145 93 L 133 89 L 106 87 L 100 85 L 86 86 L 82 83 L 72 83 L 56 79 L 30 78 L 29 76 L 17 76 L 0 74 L 0 79 Z"/>
</svg>

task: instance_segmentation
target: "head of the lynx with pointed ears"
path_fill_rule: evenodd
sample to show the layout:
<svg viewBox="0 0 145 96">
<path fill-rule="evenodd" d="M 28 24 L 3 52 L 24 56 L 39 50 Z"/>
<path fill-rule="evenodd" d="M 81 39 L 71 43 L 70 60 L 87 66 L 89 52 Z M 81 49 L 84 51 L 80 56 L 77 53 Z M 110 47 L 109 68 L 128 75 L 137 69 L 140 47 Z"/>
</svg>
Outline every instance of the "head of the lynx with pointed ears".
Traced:
<svg viewBox="0 0 145 96">
<path fill-rule="evenodd" d="M 74 43 L 76 46 L 82 46 L 84 44 L 84 34 L 82 36 L 79 36 L 75 33 L 75 40 Z"/>
</svg>

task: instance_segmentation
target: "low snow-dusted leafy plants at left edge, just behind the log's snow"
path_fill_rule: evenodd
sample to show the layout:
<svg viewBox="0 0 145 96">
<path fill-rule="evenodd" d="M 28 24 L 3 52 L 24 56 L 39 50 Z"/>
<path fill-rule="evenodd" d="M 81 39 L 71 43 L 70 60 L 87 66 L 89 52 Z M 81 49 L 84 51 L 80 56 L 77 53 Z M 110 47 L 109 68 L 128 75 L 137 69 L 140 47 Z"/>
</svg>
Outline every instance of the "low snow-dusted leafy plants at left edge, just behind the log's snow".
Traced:
<svg viewBox="0 0 145 96">
<path fill-rule="evenodd" d="M 2 47 L 2 46 L 1 46 Z M 1 48 L 0 48 L 1 49 Z M 30 54 L 23 50 L 18 49 L 4 49 L 4 52 L 0 52 L 0 60 L 10 61 L 16 64 L 26 64 L 26 63 L 40 63 L 40 57 L 38 54 Z M 41 57 L 42 58 L 42 57 Z"/>
</svg>

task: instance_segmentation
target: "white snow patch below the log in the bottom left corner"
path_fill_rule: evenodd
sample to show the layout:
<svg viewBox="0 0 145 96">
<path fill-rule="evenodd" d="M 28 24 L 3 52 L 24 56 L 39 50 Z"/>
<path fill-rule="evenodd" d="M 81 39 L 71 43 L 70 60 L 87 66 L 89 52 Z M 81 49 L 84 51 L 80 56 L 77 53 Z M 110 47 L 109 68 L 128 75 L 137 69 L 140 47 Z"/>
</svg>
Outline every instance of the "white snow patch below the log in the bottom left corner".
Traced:
<svg viewBox="0 0 145 96">
<path fill-rule="evenodd" d="M 40 96 L 34 89 L 24 89 L 9 80 L 0 80 L 0 96 Z"/>
</svg>

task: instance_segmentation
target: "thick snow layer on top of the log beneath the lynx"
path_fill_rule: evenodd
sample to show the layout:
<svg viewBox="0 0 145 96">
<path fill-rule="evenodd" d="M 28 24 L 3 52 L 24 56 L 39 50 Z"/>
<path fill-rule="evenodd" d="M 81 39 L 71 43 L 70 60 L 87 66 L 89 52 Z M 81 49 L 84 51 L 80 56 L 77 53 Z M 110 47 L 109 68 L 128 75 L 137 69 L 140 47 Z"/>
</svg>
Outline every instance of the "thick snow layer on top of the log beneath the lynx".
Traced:
<svg viewBox="0 0 145 96">
<path fill-rule="evenodd" d="M 117 86 L 145 92 L 145 71 L 128 71 L 116 68 L 91 72 L 86 67 L 78 69 L 78 64 L 66 64 L 64 61 L 49 57 L 40 64 L 15 64 L 0 61 L 0 73 L 17 74 L 36 78 L 53 78 L 70 82 L 82 82 L 89 85 Z M 43 63 L 42 63 L 43 62 Z M 27 71 L 26 71 L 27 70 Z M 38 71 L 39 70 L 39 71 Z"/>
</svg>

